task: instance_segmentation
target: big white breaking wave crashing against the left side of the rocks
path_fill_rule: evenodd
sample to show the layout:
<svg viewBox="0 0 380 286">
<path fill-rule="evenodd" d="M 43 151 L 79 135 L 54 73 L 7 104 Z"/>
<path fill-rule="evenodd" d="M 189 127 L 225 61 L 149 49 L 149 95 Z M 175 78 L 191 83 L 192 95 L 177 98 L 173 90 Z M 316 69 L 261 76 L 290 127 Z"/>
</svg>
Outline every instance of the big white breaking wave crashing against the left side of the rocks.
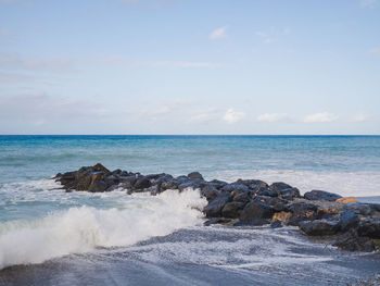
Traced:
<svg viewBox="0 0 380 286">
<path fill-rule="evenodd" d="M 125 196 L 124 208 L 71 208 L 35 221 L 0 224 L 0 269 L 129 246 L 200 223 L 206 201 L 194 190 Z"/>
</svg>

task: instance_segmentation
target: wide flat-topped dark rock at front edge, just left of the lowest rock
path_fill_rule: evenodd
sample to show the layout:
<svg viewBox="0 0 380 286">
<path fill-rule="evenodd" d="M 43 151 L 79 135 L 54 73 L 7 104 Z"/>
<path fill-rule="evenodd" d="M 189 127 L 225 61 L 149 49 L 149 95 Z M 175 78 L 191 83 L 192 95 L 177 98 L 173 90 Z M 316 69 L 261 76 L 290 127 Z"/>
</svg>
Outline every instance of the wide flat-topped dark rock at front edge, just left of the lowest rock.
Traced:
<svg viewBox="0 0 380 286">
<path fill-rule="evenodd" d="M 337 221 L 315 220 L 301 222 L 300 228 L 306 235 L 325 236 L 337 234 L 340 229 L 340 225 Z"/>
</svg>

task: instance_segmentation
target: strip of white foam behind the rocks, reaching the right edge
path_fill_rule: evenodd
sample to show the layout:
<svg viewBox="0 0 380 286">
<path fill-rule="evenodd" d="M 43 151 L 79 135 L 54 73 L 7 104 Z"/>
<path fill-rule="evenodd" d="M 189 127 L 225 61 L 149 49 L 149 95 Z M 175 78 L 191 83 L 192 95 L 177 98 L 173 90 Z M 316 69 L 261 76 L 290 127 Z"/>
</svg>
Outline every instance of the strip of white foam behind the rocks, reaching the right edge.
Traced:
<svg viewBox="0 0 380 286">
<path fill-rule="evenodd" d="M 380 172 L 313 172 L 296 170 L 221 171 L 215 177 L 229 182 L 238 178 L 257 178 L 267 183 L 286 182 L 302 194 L 322 189 L 341 196 L 380 196 Z"/>
</svg>

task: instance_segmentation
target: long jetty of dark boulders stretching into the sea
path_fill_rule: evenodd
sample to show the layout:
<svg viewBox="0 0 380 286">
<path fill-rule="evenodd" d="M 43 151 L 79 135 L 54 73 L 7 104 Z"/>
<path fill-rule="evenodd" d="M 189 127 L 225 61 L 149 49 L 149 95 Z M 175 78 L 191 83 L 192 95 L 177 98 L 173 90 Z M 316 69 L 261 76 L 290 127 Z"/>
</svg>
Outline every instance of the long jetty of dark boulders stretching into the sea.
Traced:
<svg viewBox="0 0 380 286">
<path fill-rule="evenodd" d="M 380 204 L 360 203 L 355 198 L 324 190 L 300 195 L 286 183 L 238 179 L 226 183 L 205 181 L 199 172 L 173 177 L 169 174 L 141 175 L 122 170 L 110 171 L 102 164 L 56 174 L 66 191 L 92 192 L 124 189 L 127 194 L 157 195 L 167 189 L 200 189 L 208 204 L 203 212 L 205 225 L 299 226 L 308 236 L 329 237 L 333 245 L 350 251 L 373 251 L 379 248 Z"/>
</svg>

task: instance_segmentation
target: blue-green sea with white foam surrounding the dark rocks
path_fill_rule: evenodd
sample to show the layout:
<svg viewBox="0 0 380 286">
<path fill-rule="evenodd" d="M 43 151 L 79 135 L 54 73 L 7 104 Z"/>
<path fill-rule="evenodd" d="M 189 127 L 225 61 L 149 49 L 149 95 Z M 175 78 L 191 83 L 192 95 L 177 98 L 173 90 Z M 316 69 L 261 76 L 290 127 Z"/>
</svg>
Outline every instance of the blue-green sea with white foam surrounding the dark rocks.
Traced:
<svg viewBox="0 0 380 286">
<path fill-rule="evenodd" d="M 65 192 L 56 173 L 286 182 L 380 203 L 380 136 L 0 136 L 0 285 L 359 285 L 380 253 L 296 227 L 204 226 L 199 190 Z"/>
</svg>

